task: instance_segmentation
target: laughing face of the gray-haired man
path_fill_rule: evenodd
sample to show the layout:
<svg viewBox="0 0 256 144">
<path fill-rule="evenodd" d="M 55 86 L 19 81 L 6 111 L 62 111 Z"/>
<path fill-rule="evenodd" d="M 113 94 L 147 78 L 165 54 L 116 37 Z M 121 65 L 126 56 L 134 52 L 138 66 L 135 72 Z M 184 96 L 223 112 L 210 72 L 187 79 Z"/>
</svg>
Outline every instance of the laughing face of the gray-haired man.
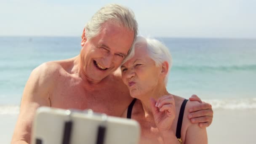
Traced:
<svg viewBox="0 0 256 144">
<path fill-rule="evenodd" d="M 99 82 L 114 72 L 133 43 L 134 32 L 107 21 L 99 35 L 85 40 L 81 58 L 83 74 L 89 81 Z"/>
</svg>

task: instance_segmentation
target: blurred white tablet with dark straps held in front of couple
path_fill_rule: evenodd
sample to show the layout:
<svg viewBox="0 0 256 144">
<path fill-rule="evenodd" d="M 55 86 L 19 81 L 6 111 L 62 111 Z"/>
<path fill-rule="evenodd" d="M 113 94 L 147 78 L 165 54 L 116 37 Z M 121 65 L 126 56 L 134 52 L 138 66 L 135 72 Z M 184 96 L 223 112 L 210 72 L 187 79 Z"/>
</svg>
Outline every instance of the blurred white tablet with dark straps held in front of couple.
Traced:
<svg viewBox="0 0 256 144">
<path fill-rule="evenodd" d="M 32 126 L 32 144 L 138 144 L 135 120 L 85 111 L 40 107 Z"/>
</svg>

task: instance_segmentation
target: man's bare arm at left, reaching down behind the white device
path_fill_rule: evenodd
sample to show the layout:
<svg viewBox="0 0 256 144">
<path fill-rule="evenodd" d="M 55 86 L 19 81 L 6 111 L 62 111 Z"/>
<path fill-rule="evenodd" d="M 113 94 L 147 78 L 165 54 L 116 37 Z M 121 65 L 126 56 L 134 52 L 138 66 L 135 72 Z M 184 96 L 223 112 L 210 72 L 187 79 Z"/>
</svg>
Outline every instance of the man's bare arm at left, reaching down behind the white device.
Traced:
<svg viewBox="0 0 256 144">
<path fill-rule="evenodd" d="M 11 144 L 30 143 L 32 122 L 37 108 L 40 106 L 50 107 L 50 71 L 49 64 L 42 64 L 32 71 L 24 88 L 20 114 L 14 129 Z"/>
</svg>

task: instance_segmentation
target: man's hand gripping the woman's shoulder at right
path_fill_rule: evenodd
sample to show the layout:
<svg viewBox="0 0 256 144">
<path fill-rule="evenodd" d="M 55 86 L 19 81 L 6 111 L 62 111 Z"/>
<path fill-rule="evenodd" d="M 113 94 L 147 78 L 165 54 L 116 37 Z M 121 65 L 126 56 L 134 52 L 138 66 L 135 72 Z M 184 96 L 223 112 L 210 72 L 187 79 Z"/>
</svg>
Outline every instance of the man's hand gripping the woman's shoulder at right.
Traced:
<svg viewBox="0 0 256 144">
<path fill-rule="evenodd" d="M 189 101 L 199 101 L 200 104 L 197 104 L 189 109 L 188 118 L 191 123 L 199 123 L 201 128 L 206 128 L 211 125 L 213 121 L 213 109 L 211 104 L 202 102 L 197 95 L 192 95 L 189 98 Z"/>
</svg>

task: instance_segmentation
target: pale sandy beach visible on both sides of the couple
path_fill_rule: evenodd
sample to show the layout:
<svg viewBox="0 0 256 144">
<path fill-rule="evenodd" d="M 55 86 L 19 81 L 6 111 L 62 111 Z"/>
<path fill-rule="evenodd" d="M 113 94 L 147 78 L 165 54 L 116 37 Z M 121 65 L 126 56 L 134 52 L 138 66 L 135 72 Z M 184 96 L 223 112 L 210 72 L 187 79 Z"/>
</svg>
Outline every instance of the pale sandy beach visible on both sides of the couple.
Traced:
<svg viewBox="0 0 256 144">
<path fill-rule="evenodd" d="M 10 144 L 17 115 L 0 115 L 0 144 Z M 214 109 L 208 144 L 256 144 L 256 109 Z"/>
</svg>

